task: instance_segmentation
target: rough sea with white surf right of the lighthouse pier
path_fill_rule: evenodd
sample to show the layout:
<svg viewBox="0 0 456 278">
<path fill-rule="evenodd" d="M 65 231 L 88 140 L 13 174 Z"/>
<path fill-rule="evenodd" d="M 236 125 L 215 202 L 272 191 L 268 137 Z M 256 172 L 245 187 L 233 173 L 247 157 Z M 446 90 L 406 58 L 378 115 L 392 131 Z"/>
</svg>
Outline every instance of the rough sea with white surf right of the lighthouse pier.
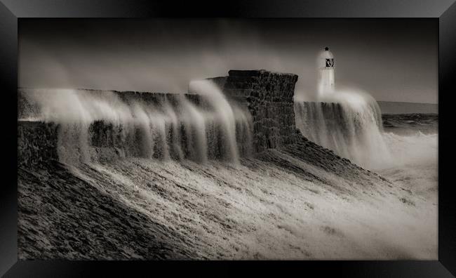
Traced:
<svg viewBox="0 0 456 278">
<path fill-rule="evenodd" d="M 384 140 L 393 156 L 379 173 L 434 203 L 438 192 L 438 114 L 384 114 Z"/>
</svg>

